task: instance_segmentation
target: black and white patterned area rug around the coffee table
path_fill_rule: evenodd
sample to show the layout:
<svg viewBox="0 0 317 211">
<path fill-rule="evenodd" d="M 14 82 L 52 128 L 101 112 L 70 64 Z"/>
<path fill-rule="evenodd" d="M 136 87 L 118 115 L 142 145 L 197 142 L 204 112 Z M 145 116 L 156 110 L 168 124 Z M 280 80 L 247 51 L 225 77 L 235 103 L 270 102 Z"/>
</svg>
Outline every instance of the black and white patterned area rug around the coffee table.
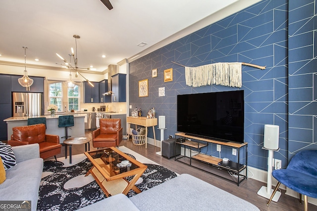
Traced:
<svg viewBox="0 0 317 211">
<path fill-rule="evenodd" d="M 131 156 L 131 155 L 129 155 Z M 133 157 L 133 156 L 131 156 Z M 143 181 L 136 186 L 141 190 L 148 190 L 162 182 L 176 177 L 176 173 L 159 165 L 145 164 L 148 169 L 141 176 Z M 38 211 L 74 211 L 94 204 L 106 198 L 106 195 L 94 180 L 82 187 L 65 189 L 64 184 L 80 175 L 85 175 L 92 164 L 88 159 L 70 167 L 62 167 L 63 163 L 45 161 L 43 172 L 53 174 L 41 180 L 39 189 Z M 128 178 L 127 179 L 131 179 Z M 128 197 L 136 193 L 130 190 Z"/>
</svg>

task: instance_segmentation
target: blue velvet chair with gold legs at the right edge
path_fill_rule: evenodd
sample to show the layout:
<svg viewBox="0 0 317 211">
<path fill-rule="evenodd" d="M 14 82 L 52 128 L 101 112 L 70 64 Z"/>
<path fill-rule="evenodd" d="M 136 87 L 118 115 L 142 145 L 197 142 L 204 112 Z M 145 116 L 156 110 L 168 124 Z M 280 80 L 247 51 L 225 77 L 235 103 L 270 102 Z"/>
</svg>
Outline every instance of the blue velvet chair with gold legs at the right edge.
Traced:
<svg viewBox="0 0 317 211">
<path fill-rule="evenodd" d="M 267 206 L 282 183 L 299 193 L 300 203 L 302 195 L 304 195 L 304 211 L 307 211 L 307 197 L 317 198 L 317 150 L 305 150 L 297 153 L 286 169 L 273 170 L 272 176 L 277 179 L 278 183 Z"/>
</svg>

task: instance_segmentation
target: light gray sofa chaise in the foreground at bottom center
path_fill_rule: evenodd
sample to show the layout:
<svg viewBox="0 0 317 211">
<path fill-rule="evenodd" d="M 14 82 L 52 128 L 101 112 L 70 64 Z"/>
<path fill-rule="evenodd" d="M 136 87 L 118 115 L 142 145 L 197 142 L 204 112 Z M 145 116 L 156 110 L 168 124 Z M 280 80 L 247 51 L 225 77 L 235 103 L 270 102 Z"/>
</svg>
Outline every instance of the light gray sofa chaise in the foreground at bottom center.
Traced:
<svg viewBox="0 0 317 211">
<path fill-rule="evenodd" d="M 189 174 L 181 174 L 131 198 L 118 194 L 79 211 L 101 208 L 114 211 L 259 211 L 253 204 Z"/>
</svg>

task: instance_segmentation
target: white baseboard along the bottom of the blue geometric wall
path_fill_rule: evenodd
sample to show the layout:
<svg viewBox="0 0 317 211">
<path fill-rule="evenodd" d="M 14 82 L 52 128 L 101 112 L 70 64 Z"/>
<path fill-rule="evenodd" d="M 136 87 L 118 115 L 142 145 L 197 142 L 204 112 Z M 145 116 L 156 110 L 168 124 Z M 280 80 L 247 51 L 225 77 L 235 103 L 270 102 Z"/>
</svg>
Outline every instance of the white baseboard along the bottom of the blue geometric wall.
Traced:
<svg viewBox="0 0 317 211">
<path fill-rule="evenodd" d="M 155 145 L 154 139 L 148 138 L 148 144 Z M 157 140 L 157 146 L 160 147 L 160 141 L 158 141 L 158 140 Z M 184 148 L 182 148 L 181 154 L 184 155 Z M 192 151 L 192 156 L 195 154 L 197 154 L 197 153 L 194 153 L 194 151 Z M 186 148 L 186 155 L 190 155 L 190 151 L 187 148 Z M 247 175 L 248 175 L 248 178 L 252 178 L 252 179 L 264 182 L 264 183 L 267 182 L 267 171 L 265 171 L 265 170 L 261 170 L 261 169 L 257 169 L 257 168 L 248 166 L 248 174 Z M 276 186 L 276 184 L 277 184 L 277 180 L 274 177 L 272 177 L 272 188 L 273 189 Z M 260 188 L 261 187 L 259 187 L 259 189 Z M 279 186 L 279 188 L 282 190 L 286 190 L 286 192 L 285 192 L 286 195 L 292 196 L 296 199 L 299 198 L 299 194 L 297 192 L 293 191 L 290 188 L 286 188 L 285 185 L 281 184 Z M 315 198 L 308 197 L 308 202 L 317 206 L 317 199 L 315 199 Z"/>
</svg>

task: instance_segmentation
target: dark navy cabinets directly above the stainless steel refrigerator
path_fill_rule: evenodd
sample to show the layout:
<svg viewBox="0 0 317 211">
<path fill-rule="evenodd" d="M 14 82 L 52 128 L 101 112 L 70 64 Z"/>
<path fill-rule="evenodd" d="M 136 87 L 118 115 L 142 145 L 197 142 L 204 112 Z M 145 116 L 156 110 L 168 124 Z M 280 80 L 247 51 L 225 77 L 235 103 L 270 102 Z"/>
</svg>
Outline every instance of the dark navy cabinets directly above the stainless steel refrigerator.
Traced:
<svg viewBox="0 0 317 211">
<path fill-rule="evenodd" d="M 35 77 L 29 76 L 33 79 L 33 84 L 30 86 L 30 91 L 26 90 L 26 87 L 23 87 L 19 84 L 18 79 L 22 76 L 11 76 L 11 91 L 12 92 L 44 92 L 44 77 Z"/>
</svg>

